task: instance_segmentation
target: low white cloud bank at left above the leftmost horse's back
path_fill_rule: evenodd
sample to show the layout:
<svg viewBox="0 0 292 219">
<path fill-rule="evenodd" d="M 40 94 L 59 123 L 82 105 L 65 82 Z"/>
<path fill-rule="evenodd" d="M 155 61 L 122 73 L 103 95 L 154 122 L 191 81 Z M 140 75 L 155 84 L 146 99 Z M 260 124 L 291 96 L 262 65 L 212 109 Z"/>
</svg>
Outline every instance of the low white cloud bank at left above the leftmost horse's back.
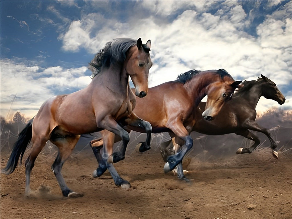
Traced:
<svg viewBox="0 0 292 219">
<path fill-rule="evenodd" d="M 91 82 L 90 77 L 84 75 L 86 69 L 56 66 L 43 70 L 14 60 L 1 60 L 1 115 L 8 114 L 16 95 L 10 113 L 20 111 L 33 117 L 48 98 L 86 87 Z"/>
</svg>

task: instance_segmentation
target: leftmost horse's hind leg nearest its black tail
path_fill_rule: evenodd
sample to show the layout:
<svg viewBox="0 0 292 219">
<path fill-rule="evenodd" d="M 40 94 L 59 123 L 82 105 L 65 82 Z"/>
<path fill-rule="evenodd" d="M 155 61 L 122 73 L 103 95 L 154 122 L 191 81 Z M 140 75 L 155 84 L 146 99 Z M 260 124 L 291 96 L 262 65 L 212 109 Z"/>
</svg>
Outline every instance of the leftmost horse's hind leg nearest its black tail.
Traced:
<svg viewBox="0 0 292 219">
<path fill-rule="evenodd" d="M 30 173 L 32 171 L 32 168 L 34 167 L 34 161 L 36 160 L 36 157 L 39 155 L 43 147 L 46 145 L 47 140 L 46 139 L 36 139 L 33 140 L 33 145 L 31 152 L 25 161 L 25 195 L 30 195 Z"/>
</svg>

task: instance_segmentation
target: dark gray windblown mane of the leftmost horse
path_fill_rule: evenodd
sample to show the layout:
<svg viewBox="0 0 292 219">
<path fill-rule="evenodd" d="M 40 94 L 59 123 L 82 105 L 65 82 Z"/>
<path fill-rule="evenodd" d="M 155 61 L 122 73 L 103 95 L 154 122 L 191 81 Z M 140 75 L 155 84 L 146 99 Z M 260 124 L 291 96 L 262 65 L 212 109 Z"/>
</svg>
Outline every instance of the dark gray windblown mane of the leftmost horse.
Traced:
<svg viewBox="0 0 292 219">
<path fill-rule="evenodd" d="M 124 62 L 128 49 L 137 42 L 130 38 L 113 39 L 105 44 L 94 58 L 89 62 L 89 69 L 92 71 L 91 78 L 94 78 L 101 71 L 101 67 L 109 67 L 116 62 Z"/>
</svg>

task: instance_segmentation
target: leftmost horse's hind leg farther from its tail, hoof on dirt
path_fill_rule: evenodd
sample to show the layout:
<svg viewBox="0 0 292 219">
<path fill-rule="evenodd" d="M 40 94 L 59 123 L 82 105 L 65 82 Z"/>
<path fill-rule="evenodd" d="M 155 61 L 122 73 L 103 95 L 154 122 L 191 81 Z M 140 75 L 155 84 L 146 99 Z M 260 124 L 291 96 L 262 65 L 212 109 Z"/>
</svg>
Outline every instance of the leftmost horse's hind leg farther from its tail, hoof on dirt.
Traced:
<svg viewBox="0 0 292 219">
<path fill-rule="evenodd" d="M 52 165 L 52 171 L 55 174 L 55 177 L 62 190 L 62 194 L 65 197 L 82 197 L 83 196 L 82 194 L 73 192 L 72 190 L 68 188 L 61 173 L 64 162 L 70 156 L 79 138 L 80 138 L 80 135 L 65 135 L 63 137 L 51 139 L 51 142 L 53 142 L 53 144 L 55 144 L 59 148 L 58 155 L 55 159 L 55 162 Z"/>
</svg>

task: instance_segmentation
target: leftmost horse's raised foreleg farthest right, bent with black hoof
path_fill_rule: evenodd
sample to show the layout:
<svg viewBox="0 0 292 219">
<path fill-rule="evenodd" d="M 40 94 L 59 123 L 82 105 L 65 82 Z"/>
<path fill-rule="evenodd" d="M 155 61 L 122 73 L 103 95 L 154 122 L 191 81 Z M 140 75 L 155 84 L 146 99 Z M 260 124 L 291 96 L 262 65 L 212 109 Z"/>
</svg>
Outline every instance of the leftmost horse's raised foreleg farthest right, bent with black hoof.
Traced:
<svg viewBox="0 0 292 219">
<path fill-rule="evenodd" d="M 131 113 L 127 119 L 124 120 L 122 123 L 123 125 L 127 126 L 127 128 L 131 127 L 139 127 L 145 129 L 145 133 L 147 134 L 146 136 L 146 141 L 145 142 L 139 142 L 140 147 L 139 151 L 145 152 L 147 150 L 150 150 L 150 144 L 151 144 L 151 132 L 152 132 L 152 126 L 150 122 L 144 121 L 140 119 L 139 117 L 136 116 L 136 114 Z"/>
</svg>

